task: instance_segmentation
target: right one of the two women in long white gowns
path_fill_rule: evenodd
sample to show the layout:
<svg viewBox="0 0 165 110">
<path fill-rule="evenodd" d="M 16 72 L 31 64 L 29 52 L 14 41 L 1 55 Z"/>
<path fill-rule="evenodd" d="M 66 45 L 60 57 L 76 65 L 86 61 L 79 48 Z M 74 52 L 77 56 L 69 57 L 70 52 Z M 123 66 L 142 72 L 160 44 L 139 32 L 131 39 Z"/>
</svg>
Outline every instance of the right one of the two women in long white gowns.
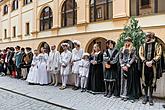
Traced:
<svg viewBox="0 0 165 110">
<path fill-rule="evenodd" d="M 41 48 L 41 53 L 38 55 L 39 63 L 38 63 L 38 73 L 39 73 L 39 84 L 46 85 L 49 83 L 48 73 L 47 73 L 47 61 L 48 54 L 45 53 L 45 49 Z"/>
</svg>

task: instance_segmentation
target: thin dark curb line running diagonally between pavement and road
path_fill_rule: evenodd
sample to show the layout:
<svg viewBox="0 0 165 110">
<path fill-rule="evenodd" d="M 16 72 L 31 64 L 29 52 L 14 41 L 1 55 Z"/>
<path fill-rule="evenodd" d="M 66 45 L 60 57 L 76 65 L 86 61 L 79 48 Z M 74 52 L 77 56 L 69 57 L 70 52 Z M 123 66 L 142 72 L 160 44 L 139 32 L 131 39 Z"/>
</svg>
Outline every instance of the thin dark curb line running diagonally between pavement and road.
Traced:
<svg viewBox="0 0 165 110">
<path fill-rule="evenodd" d="M 47 103 L 47 104 L 50 104 L 50 105 L 54 105 L 54 106 L 57 106 L 57 107 L 61 107 L 61 108 L 64 108 L 64 109 L 76 110 L 76 109 L 74 109 L 74 108 L 66 107 L 66 106 L 59 105 L 59 104 L 55 104 L 55 103 L 52 103 L 52 102 L 49 102 L 49 101 L 46 101 L 46 100 L 42 100 L 42 99 L 39 99 L 39 98 L 31 97 L 31 96 L 28 96 L 28 95 L 25 95 L 25 94 L 22 94 L 22 93 L 19 93 L 19 92 L 15 92 L 15 91 L 13 91 L 13 90 L 9 90 L 9 89 L 6 89 L 6 88 L 0 87 L 0 89 L 1 89 L 1 90 L 4 90 L 4 91 L 11 92 L 11 93 L 15 93 L 15 94 L 17 94 L 17 95 L 21 95 L 21 96 L 24 96 L 24 97 L 27 97 L 27 98 L 31 98 L 31 99 L 34 99 L 34 100 L 37 100 L 37 101 L 40 101 L 40 102 L 44 102 L 44 103 Z"/>
</svg>

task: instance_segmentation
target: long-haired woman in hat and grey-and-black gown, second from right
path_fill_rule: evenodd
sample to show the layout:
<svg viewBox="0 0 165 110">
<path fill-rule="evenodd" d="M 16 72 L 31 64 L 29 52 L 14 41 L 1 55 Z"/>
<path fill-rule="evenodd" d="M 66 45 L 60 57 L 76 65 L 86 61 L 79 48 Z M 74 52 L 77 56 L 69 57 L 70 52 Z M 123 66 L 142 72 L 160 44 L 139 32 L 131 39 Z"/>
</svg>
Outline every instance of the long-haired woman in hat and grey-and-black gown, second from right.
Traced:
<svg viewBox="0 0 165 110">
<path fill-rule="evenodd" d="M 125 44 L 119 55 L 121 65 L 121 98 L 128 99 L 133 103 L 140 95 L 140 78 L 136 72 L 136 49 L 133 47 L 132 39 L 125 38 Z"/>
</svg>

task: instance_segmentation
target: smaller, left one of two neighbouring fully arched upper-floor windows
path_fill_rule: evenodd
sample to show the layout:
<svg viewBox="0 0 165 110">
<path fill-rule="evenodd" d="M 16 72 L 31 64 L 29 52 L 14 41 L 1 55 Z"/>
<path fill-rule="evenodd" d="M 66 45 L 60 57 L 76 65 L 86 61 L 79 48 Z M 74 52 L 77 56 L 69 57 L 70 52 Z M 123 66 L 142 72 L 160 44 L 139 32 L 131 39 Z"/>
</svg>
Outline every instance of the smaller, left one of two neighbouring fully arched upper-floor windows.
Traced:
<svg viewBox="0 0 165 110">
<path fill-rule="evenodd" d="M 45 7 L 40 15 L 40 31 L 51 29 L 53 26 L 53 14 L 50 7 Z"/>
</svg>

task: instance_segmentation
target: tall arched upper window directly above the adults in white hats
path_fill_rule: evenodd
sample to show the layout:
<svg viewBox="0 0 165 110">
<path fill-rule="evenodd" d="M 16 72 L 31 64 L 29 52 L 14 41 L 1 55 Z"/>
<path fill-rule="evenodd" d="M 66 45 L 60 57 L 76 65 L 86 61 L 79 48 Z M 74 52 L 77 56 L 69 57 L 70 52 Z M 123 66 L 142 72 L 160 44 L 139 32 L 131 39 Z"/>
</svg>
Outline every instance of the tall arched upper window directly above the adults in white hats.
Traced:
<svg viewBox="0 0 165 110">
<path fill-rule="evenodd" d="M 75 0 L 66 0 L 62 6 L 61 26 L 73 26 L 77 24 L 77 4 Z"/>
</svg>

